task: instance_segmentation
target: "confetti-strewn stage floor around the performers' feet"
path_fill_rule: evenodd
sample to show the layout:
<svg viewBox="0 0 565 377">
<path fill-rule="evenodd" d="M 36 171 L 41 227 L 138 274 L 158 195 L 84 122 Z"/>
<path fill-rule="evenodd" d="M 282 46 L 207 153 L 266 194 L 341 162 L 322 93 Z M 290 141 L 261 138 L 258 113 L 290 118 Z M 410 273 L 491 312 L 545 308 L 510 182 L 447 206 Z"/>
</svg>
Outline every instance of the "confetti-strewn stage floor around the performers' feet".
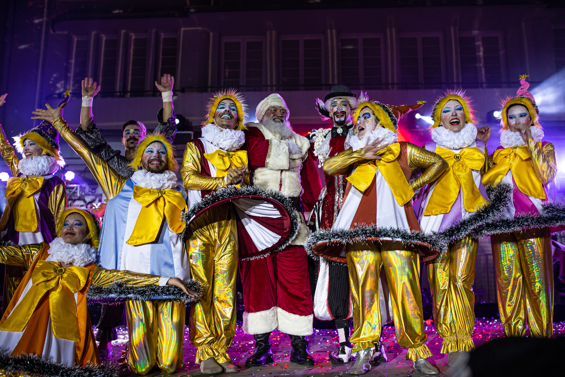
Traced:
<svg viewBox="0 0 565 377">
<path fill-rule="evenodd" d="M 565 322 L 554 323 L 555 336 L 565 335 Z M 194 363 L 194 354 L 196 348 L 188 341 L 188 327 L 185 330 L 184 342 L 184 365 L 173 376 L 197 376 L 203 375 L 199 366 Z M 436 366 L 440 372 L 447 370 L 447 355 L 440 354 L 441 337 L 437 336 L 436 329 L 433 326 L 426 326 L 425 332 L 428 335 L 428 347 L 432 350 L 433 356 L 429 359 L 432 365 Z M 478 319 L 475 332 L 473 332 L 473 341 L 478 346 L 485 341 L 502 337 L 503 331 L 498 319 Z M 119 339 L 112 342 L 112 359 L 118 361 L 121 350 L 124 349 L 125 342 L 128 340 L 127 329 L 121 328 L 118 332 Z M 241 329 L 241 323 L 238 323 L 236 337 L 228 353 L 232 357 L 233 363 L 240 366 L 240 371 L 231 376 L 255 376 L 270 377 L 275 375 L 303 375 L 305 377 L 337 377 L 347 374 L 347 370 L 351 364 L 344 366 L 333 366 L 328 359 L 328 351 L 334 349 L 337 342 L 337 333 L 335 330 L 314 330 L 314 333 L 308 337 L 310 339 L 310 352 L 316 359 L 314 366 L 299 366 L 289 362 L 290 340 L 288 336 L 279 331 L 273 331 L 271 335 L 272 350 L 275 357 L 275 363 L 263 367 L 246 367 L 245 359 L 253 353 L 254 340 L 253 336 L 247 335 Z M 378 366 L 373 366 L 367 376 L 420 376 L 423 375 L 416 371 L 411 361 L 406 360 L 406 349 L 401 348 L 396 343 L 393 327 L 385 327 L 384 343 L 386 345 L 386 353 L 388 354 L 388 362 Z M 132 372 L 125 371 L 124 376 L 134 376 Z M 155 368 L 147 376 L 165 375 Z M 228 374 L 225 374 L 228 376 Z M 444 376 L 439 374 L 438 376 Z"/>
</svg>

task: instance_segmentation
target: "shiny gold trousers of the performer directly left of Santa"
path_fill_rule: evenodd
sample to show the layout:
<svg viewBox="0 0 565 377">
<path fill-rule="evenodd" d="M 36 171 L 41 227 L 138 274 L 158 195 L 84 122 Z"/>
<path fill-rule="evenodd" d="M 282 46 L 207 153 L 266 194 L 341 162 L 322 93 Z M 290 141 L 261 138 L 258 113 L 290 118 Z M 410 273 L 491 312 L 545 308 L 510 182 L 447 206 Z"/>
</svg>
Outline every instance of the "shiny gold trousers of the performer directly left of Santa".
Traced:
<svg viewBox="0 0 565 377">
<path fill-rule="evenodd" d="M 236 335 L 237 223 L 228 203 L 199 216 L 188 241 L 192 278 L 202 283 L 202 298 L 192 305 L 190 343 L 196 362 L 213 357 L 231 361 L 226 350 Z"/>
</svg>

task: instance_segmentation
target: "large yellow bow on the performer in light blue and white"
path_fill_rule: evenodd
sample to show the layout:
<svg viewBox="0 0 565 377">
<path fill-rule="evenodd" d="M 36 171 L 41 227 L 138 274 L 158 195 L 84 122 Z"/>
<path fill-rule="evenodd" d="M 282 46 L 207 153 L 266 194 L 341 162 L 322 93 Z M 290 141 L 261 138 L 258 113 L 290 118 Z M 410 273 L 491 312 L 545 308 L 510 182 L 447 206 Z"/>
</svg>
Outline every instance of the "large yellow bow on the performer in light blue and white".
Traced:
<svg viewBox="0 0 565 377">
<path fill-rule="evenodd" d="M 138 246 L 155 241 L 163 224 L 163 216 L 167 218 L 167 224 L 173 232 L 180 233 L 184 230 L 185 224 L 181 222 L 180 215 L 186 209 L 186 202 L 180 192 L 134 185 L 133 198 L 143 207 L 137 216 L 132 235 L 126 242 L 128 245 Z"/>
</svg>

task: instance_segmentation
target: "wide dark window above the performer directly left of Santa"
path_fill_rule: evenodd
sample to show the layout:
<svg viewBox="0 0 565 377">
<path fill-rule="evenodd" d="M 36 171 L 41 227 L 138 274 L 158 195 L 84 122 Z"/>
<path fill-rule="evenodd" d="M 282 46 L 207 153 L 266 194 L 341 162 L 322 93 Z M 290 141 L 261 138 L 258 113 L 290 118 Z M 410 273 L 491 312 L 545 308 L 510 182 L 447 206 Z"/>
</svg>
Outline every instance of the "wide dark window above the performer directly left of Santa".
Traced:
<svg viewBox="0 0 565 377">
<path fill-rule="evenodd" d="M 224 41 L 223 85 L 262 90 L 263 41 Z"/>
</svg>

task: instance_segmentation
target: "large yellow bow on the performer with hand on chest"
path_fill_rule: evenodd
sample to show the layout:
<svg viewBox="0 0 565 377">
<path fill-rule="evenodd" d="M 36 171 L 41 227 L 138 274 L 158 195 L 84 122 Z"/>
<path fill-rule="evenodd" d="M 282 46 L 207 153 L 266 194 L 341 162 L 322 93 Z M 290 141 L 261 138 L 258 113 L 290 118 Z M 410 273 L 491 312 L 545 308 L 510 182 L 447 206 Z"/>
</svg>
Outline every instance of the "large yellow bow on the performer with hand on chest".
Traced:
<svg viewBox="0 0 565 377">
<path fill-rule="evenodd" d="M 377 168 L 383 174 L 386 183 L 396 198 L 399 205 L 405 205 L 414 196 L 414 190 L 408 185 L 406 176 L 397 161 L 400 154 L 400 144 L 390 144 L 376 153 L 381 159 L 359 165 L 346 179 L 360 192 L 364 192 L 370 185 L 377 173 Z"/>
</svg>

